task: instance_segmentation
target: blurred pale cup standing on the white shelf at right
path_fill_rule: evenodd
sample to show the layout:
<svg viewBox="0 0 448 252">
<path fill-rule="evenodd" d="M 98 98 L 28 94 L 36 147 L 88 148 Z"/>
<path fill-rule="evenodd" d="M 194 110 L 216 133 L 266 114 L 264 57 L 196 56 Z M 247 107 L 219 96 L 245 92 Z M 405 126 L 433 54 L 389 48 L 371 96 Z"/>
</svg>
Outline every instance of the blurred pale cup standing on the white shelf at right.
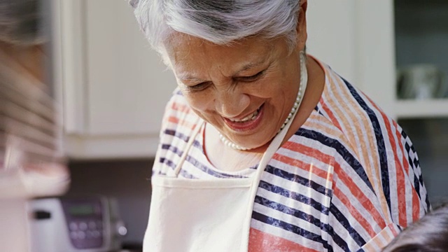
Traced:
<svg viewBox="0 0 448 252">
<path fill-rule="evenodd" d="M 444 73 L 433 64 L 413 64 L 398 69 L 397 88 L 400 99 L 444 98 L 448 94 Z"/>
</svg>

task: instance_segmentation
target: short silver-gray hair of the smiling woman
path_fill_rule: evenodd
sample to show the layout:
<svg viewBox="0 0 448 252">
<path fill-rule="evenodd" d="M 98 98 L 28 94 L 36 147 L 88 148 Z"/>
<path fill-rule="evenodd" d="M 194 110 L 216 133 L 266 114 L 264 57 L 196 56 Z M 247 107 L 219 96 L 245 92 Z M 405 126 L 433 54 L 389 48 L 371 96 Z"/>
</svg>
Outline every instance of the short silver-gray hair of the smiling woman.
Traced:
<svg viewBox="0 0 448 252">
<path fill-rule="evenodd" d="M 252 36 L 285 37 L 295 46 L 300 0 L 131 0 L 151 46 L 164 54 L 174 31 L 218 45 Z"/>
</svg>

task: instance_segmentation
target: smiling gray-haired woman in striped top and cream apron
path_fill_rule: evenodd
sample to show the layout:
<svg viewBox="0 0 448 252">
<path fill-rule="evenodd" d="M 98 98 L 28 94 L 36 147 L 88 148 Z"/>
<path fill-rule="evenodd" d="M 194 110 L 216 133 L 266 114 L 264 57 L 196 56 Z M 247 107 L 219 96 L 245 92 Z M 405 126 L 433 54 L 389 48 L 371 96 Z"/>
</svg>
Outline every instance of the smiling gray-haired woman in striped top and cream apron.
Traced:
<svg viewBox="0 0 448 252">
<path fill-rule="evenodd" d="M 428 211 L 405 132 L 306 55 L 307 0 L 131 4 L 179 85 L 145 251 L 379 251 Z"/>
</svg>

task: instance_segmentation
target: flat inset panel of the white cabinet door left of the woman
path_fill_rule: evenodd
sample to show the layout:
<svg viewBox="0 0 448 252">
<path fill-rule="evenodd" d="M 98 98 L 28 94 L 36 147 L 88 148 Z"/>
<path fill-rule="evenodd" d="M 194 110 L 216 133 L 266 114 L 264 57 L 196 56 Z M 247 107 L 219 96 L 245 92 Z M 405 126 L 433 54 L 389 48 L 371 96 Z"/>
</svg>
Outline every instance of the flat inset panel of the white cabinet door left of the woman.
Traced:
<svg viewBox="0 0 448 252">
<path fill-rule="evenodd" d="M 85 2 L 88 134 L 153 134 L 176 82 L 127 1 Z"/>
</svg>

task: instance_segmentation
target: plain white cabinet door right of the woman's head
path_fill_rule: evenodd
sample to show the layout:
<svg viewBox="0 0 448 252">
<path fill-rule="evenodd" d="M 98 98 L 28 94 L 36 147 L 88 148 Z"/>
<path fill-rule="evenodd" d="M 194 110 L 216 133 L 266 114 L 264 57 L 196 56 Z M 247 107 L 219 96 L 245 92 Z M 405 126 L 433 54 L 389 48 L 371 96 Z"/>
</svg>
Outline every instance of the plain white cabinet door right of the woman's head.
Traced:
<svg viewBox="0 0 448 252">
<path fill-rule="evenodd" d="M 393 0 L 308 1 L 308 52 L 395 116 Z"/>
</svg>

